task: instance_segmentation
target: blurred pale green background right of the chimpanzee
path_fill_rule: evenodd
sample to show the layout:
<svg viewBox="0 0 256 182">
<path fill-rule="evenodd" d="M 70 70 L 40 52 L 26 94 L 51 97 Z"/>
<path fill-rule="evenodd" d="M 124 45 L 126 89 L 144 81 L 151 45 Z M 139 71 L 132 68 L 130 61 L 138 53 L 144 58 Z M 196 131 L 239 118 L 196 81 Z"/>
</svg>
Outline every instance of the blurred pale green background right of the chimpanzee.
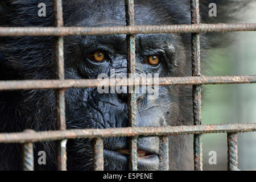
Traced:
<svg viewBox="0 0 256 182">
<path fill-rule="evenodd" d="M 240 22 L 256 23 L 256 1 Z M 256 75 L 256 32 L 235 32 L 229 48 L 210 52 L 210 68 L 204 75 Z M 205 66 L 209 67 L 209 65 Z M 205 85 L 202 96 L 203 124 L 256 122 L 256 84 Z M 209 151 L 216 151 L 217 164 L 210 165 Z M 226 170 L 226 134 L 203 135 L 204 170 Z M 256 133 L 238 134 L 238 168 L 256 169 Z"/>
</svg>

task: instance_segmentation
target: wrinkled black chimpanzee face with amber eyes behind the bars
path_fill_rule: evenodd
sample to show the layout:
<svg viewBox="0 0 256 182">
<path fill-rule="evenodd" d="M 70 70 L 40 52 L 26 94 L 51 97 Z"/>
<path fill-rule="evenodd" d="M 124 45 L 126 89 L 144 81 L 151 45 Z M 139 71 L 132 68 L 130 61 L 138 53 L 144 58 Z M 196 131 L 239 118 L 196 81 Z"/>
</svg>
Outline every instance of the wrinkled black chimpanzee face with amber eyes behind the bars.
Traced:
<svg viewBox="0 0 256 182">
<path fill-rule="evenodd" d="M 167 10 L 156 5 L 135 1 L 135 24 L 172 24 L 172 17 L 167 15 Z M 79 1 L 65 22 L 67 26 L 81 27 L 125 26 L 125 5 L 122 1 Z M 185 44 L 185 36 L 138 34 L 135 39 L 136 76 L 189 76 L 191 61 L 187 56 L 189 45 Z M 109 78 L 126 76 L 126 59 L 126 35 L 68 36 L 65 39 L 67 79 L 98 78 L 102 73 Z M 184 106 L 184 102 L 180 101 L 188 97 L 184 96 L 184 92 L 191 92 L 191 88 L 159 86 L 154 91 L 158 92 L 154 99 L 150 99 L 148 92 L 137 93 L 137 126 L 181 125 L 191 122 L 186 115 L 180 116 Z M 68 129 L 128 127 L 127 92 L 99 93 L 97 88 L 68 89 L 66 100 Z M 172 142 L 170 147 L 178 144 Z M 159 146 L 159 137 L 139 137 L 138 169 L 161 168 Z M 73 158 L 69 164 L 71 168 L 91 167 L 92 147 L 89 139 L 70 141 L 68 148 L 71 151 L 68 154 Z M 127 169 L 128 148 L 126 137 L 105 138 L 105 169 Z"/>
</svg>

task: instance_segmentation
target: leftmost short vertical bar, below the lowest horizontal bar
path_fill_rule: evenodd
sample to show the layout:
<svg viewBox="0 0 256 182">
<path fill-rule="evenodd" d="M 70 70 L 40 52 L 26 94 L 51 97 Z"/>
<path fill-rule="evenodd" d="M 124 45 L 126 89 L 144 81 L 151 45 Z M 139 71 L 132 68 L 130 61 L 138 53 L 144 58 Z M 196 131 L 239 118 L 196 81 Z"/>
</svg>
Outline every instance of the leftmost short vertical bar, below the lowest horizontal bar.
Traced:
<svg viewBox="0 0 256 182">
<path fill-rule="evenodd" d="M 34 133 L 33 130 L 24 132 Z M 22 144 L 22 166 L 24 171 L 34 171 L 34 144 L 32 142 Z"/>
</svg>

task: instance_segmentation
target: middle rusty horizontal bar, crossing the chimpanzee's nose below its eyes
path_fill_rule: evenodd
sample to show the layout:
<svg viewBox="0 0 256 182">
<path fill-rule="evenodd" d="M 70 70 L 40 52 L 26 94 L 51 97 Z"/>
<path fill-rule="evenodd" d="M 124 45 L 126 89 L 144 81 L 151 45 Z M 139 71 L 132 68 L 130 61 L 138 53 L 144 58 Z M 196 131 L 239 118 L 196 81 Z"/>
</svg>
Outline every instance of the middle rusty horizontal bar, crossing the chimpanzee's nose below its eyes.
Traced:
<svg viewBox="0 0 256 182">
<path fill-rule="evenodd" d="M 97 88 L 97 86 L 146 86 L 154 85 L 152 78 L 116 78 L 110 79 L 81 79 L 81 80 L 19 80 L 0 81 L 0 90 L 28 89 L 61 89 L 61 88 Z M 146 84 L 143 84 L 146 83 Z M 128 83 L 128 84 L 127 84 Z M 251 84 L 256 83 L 256 75 L 248 76 L 192 76 L 159 78 L 159 86 L 167 85 L 213 85 L 213 84 Z"/>
</svg>

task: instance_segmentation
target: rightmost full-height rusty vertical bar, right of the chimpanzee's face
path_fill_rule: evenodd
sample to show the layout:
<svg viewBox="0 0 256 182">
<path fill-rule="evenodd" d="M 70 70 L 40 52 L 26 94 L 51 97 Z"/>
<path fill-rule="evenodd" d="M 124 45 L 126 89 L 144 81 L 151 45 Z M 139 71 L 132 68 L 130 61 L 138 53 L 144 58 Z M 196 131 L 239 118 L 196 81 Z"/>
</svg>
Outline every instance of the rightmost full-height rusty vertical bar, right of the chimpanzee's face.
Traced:
<svg viewBox="0 0 256 182">
<path fill-rule="evenodd" d="M 199 0 L 191 0 L 191 24 L 200 23 Z M 200 73 L 200 34 L 192 33 L 192 76 L 201 76 Z M 201 125 L 201 89 L 200 86 L 193 85 L 193 121 L 194 125 Z M 194 135 L 194 169 L 203 170 L 203 152 L 201 134 Z"/>
</svg>

